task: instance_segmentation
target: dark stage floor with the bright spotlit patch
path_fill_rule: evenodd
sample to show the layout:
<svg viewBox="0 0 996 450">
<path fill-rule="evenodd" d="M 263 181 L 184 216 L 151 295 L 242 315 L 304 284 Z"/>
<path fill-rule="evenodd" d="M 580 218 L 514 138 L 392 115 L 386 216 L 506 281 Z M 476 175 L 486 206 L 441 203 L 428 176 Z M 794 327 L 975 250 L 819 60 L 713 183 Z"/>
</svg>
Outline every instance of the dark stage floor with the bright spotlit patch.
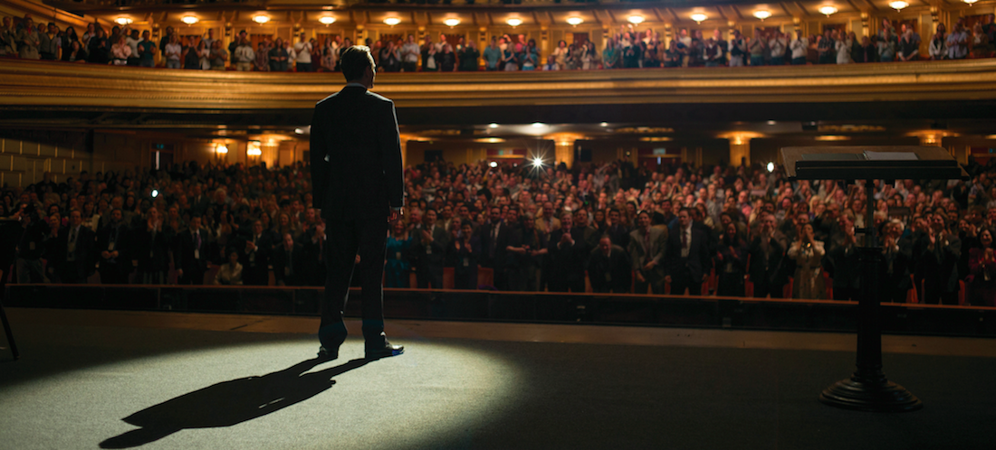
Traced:
<svg viewBox="0 0 996 450">
<path fill-rule="evenodd" d="M 8 314 L 0 448 L 996 446 L 996 340 L 884 337 L 924 407 L 878 414 L 817 400 L 853 335 L 395 321 L 404 355 L 364 362 L 354 337 L 316 365 L 315 318 Z"/>
</svg>

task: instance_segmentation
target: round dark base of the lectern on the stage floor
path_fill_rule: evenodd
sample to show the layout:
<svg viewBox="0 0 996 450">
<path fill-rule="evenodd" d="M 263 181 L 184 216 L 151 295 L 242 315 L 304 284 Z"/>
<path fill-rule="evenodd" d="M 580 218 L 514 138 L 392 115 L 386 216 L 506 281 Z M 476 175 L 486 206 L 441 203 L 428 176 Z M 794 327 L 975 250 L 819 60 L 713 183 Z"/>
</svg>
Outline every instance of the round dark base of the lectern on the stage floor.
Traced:
<svg viewBox="0 0 996 450">
<path fill-rule="evenodd" d="M 904 412 L 923 407 L 923 403 L 905 387 L 886 379 L 866 382 L 842 379 L 820 394 L 820 401 L 831 406 L 872 412 Z"/>
</svg>

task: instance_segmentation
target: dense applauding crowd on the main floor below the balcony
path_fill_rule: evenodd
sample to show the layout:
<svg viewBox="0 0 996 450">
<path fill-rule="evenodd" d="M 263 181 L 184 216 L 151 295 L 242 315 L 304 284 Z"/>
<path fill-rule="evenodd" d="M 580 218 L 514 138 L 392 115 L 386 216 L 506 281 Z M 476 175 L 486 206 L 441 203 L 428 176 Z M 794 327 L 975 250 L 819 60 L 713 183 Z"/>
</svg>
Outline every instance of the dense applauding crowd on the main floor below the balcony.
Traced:
<svg viewBox="0 0 996 450">
<path fill-rule="evenodd" d="M 405 169 L 384 282 L 856 299 L 856 228 L 873 202 L 884 300 L 996 306 L 996 159 L 966 169 L 968 182 L 876 182 L 868 199 L 778 167 L 424 163 Z M 6 189 L 0 217 L 24 226 L 22 283 L 321 286 L 327 237 L 311 199 L 303 163 L 188 162 L 58 184 L 46 174 Z"/>
</svg>

